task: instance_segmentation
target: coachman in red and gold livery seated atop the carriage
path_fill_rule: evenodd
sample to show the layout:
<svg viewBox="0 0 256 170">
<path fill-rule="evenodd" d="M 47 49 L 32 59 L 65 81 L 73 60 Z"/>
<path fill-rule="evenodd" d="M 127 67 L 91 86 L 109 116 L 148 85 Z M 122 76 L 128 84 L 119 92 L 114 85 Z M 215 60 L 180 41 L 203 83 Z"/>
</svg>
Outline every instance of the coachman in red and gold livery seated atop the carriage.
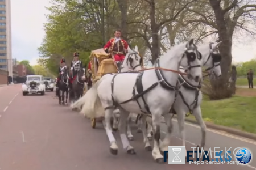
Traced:
<svg viewBox="0 0 256 170">
<path fill-rule="evenodd" d="M 125 55 L 128 52 L 128 44 L 125 40 L 121 39 L 121 30 L 115 29 L 115 37 L 110 39 L 104 46 L 106 53 L 113 53 L 115 63 L 117 63 L 118 70 L 121 69 Z"/>
</svg>

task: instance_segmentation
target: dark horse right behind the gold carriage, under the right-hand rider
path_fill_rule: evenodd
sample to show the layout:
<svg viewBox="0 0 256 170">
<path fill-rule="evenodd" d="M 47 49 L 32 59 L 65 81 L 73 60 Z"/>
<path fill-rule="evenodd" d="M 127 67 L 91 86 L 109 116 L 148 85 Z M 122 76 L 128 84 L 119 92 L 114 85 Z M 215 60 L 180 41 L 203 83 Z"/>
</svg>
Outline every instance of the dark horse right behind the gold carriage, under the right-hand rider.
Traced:
<svg viewBox="0 0 256 170">
<path fill-rule="evenodd" d="M 74 103 L 84 94 L 85 69 L 80 67 L 72 82 L 72 88 L 69 91 L 69 103 Z"/>
</svg>

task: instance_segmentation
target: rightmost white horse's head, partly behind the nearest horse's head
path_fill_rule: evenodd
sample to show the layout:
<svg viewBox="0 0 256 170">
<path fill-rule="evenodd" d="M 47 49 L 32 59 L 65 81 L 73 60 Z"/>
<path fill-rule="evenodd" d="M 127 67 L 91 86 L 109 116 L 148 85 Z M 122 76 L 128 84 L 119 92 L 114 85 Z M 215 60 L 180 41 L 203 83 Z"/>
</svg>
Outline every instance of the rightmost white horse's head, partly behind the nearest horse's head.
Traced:
<svg viewBox="0 0 256 170">
<path fill-rule="evenodd" d="M 207 67 L 205 71 L 212 71 L 217 77 L 221 76 L 221 54 L 218 50 L 221 42 L 203 44 L 198 47 L 202 55 L 202 64 Z"/>
</svg>

